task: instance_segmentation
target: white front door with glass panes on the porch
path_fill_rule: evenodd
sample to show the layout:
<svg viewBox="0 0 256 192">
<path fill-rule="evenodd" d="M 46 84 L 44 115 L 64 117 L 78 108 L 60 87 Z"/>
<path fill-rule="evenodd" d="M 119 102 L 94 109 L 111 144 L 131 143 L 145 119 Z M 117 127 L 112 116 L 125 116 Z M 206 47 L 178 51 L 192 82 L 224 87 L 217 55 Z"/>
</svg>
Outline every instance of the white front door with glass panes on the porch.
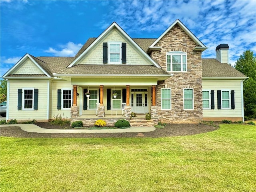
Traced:
<svg viewBox="0 0 256 192">
<path fill-rule="evenodd" d="M 145 114 L 148 112 L 148 94 L 145 92 L 132 93 L 133 112 Z"/>
</svg>

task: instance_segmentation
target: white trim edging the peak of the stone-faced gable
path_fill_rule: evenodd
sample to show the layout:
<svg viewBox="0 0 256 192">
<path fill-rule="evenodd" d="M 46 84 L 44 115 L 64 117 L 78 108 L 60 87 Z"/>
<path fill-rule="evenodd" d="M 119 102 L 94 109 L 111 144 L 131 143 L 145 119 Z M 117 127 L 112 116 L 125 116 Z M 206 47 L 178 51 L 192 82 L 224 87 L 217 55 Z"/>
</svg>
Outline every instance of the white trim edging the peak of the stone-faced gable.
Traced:
<svg viewBox="0 0 256 192">
<path fill-rule="evenodd" d="M 162 35 L 160 35 L 160 37 L 155 40 L 150 46 L 149 48 L 153 48 L 165 35 L 168 31 L 170 31 L 175 25 L 180 26 L 180 28 L 182 28 L 182 30 L 188 34 L 188 36 L 190 36 L 190 38 L 198 45 L 196 46 L 195 50 L 206 50 L 207 47 L 180 21 L 180 20 L 176 20 L 173 24 L 171 24 L 167 30 L 165 30 Z"/>
</svg>

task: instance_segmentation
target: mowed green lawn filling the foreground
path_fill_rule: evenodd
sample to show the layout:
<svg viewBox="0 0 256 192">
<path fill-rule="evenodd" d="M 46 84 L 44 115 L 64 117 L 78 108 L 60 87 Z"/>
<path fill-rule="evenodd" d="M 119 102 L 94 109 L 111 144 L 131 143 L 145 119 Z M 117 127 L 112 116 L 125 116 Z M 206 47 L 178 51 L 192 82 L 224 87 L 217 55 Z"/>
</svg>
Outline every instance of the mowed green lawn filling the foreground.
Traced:
<svg viewBox="0 0 256 192">
<path fill-rule="evenodd" d="M 1 192 L 254 192 L 256 126 L 169 138 L 1 137 Z"/>
</svg>

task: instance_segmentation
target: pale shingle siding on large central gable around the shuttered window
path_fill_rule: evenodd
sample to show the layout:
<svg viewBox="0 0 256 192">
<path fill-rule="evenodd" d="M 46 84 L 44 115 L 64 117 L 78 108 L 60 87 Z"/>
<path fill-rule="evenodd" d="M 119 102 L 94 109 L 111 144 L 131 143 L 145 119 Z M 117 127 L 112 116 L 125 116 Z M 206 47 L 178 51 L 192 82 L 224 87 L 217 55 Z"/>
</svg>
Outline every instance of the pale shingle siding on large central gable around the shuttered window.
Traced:
<svg viewBox="0 0 256 192">
<path fill-rule="evenodd" d="M 138 52 L 134 50 L 132 47 L 119 33 L 117 30 L 113 30 L 109 36 L 107 36 L 102 42 L 99 42 L 96 48 L 90 52 L 86 58 L 84 58 L 78 64 L 103 64 L 103 42 L 126 42 L 126 64 L 134 64 L 134 65 L 147 65 L 149 64 L 147 60 L 145 60 Z"/>
</svg>

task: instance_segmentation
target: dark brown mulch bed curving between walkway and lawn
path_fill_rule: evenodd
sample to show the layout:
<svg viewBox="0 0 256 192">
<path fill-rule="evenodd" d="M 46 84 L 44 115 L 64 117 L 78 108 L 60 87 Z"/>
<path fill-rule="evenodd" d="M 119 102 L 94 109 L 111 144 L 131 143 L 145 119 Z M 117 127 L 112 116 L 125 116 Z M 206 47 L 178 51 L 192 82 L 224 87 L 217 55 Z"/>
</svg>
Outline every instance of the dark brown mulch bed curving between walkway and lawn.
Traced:
<svg viewBox="0 0 256 192">
<path fill-rule="evenodd" d="M 42 128 L 63 129 L 63 126 L 50 123 L 36 123 Z M 67 127 L 66 127 L 67 128 Z M 129 137 L 172 137 L 194 135 L 217 130 L 218 126 L 205 124 L 167 124 L 164 128 L 156 128 L 152 132 L 143 133 L 31 133 L 25 132 L 17 126 L 1 127 L 0 136 L 16 138 L 129 138 Z"/>
</svg>

